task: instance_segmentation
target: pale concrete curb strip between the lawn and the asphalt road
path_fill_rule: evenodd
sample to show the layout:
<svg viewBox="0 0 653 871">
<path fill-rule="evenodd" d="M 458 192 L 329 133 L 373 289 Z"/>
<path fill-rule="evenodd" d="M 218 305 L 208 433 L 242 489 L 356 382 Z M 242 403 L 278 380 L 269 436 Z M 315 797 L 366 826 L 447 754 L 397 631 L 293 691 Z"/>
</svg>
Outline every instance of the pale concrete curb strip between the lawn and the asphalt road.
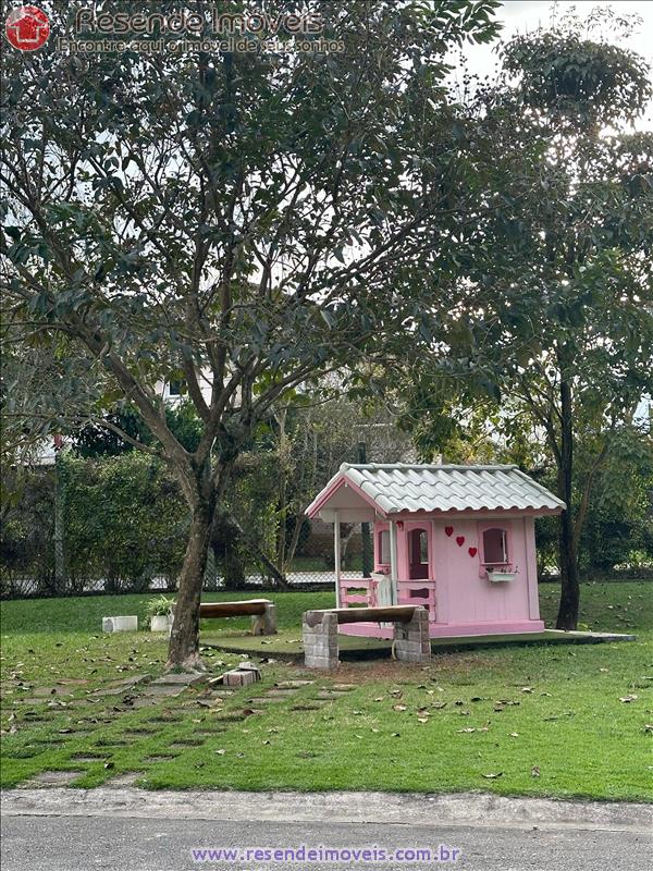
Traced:
<svg viewBox="0 0 653 871">
<path fill-rule="evenodd" d="M 4 790 L 9 817 L 132 817 L 623 831 L 650 835 L 653 805 L 483 794 L 146 792 L 99 787 Z"/>
</svg>

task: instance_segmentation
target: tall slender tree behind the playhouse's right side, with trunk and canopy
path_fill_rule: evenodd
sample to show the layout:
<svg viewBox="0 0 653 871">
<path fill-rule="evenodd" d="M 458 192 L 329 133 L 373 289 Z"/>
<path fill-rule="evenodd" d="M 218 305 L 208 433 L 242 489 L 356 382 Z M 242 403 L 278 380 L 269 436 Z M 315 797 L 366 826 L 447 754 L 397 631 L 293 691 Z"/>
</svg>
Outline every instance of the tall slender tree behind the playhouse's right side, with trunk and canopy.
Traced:
<svg viewBox="0 0 653 871">
<path fill-rule="evenodd" d="M 514 38 L 501 56 L 503 75 L 477 89 L 467 114 L 493 167 L 493 208 L 448 318 L 447 366 L 435 371 L 459 414 L 489 395 L 501 405 L 496 428 L 525 432 L 526 421 L 544 442 L 567 506 L 556 625 L 571 629 L 592 488 L 652 387 L 653 135 L 628 126 L 652 88 L 641 58 L 588 38 L 574 17 Z"/>
</svg>

